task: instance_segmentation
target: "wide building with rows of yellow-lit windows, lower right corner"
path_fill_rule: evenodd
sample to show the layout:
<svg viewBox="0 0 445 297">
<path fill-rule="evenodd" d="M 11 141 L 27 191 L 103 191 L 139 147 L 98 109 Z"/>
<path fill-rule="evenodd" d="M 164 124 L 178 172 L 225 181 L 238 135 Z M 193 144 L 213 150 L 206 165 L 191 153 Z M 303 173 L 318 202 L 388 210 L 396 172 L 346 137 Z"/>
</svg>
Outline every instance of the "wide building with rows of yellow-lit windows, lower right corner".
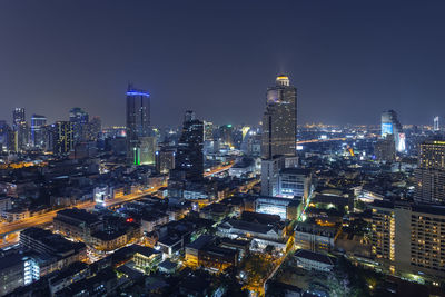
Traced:
<svg viewBox="0 0 445 297">
<path fill-rule="evenodd" d="M 374 201 L 372 254 L 390 271 L 445 277 L 445 208 Z"/>
</svg>

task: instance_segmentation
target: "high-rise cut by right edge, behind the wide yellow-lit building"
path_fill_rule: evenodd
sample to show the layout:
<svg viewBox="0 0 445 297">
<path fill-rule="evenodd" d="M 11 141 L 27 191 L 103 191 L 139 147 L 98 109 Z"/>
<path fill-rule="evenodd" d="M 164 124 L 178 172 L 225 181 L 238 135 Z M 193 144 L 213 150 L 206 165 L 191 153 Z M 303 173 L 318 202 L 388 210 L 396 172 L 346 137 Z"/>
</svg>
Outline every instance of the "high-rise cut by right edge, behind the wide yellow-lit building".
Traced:
<svg viewBox="0 0 445 297">
<path fill-rule="evenodd" d="M 415 177 L 415 200 L 445 202 L 445 141 L 432 140 L 421 143 Z"/>
</svg>

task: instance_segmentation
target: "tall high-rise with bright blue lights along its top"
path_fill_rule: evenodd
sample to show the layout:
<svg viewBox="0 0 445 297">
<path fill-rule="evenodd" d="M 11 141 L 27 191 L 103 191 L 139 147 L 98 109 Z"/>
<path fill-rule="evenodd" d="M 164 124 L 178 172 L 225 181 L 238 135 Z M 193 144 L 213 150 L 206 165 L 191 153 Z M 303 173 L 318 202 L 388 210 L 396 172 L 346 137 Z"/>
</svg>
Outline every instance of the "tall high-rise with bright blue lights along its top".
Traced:
<svg viewBox="0 0 445 297">
<path fill-rule="evenodd" d="M 128 85 L 127 89 L 127 158 L 140 165 L 140 137 L 152 136 L 150 127 L 150 95 Z"/>
</svg>

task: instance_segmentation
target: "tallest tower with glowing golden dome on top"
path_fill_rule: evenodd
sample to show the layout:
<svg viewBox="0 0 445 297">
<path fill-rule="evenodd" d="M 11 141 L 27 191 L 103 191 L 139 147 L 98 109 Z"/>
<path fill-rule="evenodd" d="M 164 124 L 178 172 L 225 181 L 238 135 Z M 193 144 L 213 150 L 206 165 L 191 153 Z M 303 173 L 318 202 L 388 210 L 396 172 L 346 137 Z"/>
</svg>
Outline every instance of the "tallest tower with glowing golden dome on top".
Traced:
<svg viewBox="0 0 445 297">
<path fill-rule="evenodd" d="M 287 76 L 278 76 L 276 86 L 267 89 L 263 117 L 263 159 L 276 155 L 295 156 L 297 140 L 297 89 Z"/>
</svg>

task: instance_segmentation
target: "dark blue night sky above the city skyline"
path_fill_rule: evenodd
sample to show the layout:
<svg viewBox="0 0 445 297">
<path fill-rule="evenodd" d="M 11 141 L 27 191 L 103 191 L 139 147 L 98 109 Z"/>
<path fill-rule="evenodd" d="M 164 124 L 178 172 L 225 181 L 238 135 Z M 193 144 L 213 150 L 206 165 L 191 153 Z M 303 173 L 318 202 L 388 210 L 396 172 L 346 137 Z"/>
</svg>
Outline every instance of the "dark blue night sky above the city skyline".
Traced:
<svg viewBox="0 0 445 297">
<path fill-rule="evenodd" d="M 243 3 L 240 3 L 243 2 Z M 298 122 L 445 118 L 445 1 L 0 1 L 0 119 L 13 107 L 68 119 L 79 106 L 125 123 L 128 81 L 152 123 L 194 109 L 258 123 L 286 72 Z"/>
</svg>

